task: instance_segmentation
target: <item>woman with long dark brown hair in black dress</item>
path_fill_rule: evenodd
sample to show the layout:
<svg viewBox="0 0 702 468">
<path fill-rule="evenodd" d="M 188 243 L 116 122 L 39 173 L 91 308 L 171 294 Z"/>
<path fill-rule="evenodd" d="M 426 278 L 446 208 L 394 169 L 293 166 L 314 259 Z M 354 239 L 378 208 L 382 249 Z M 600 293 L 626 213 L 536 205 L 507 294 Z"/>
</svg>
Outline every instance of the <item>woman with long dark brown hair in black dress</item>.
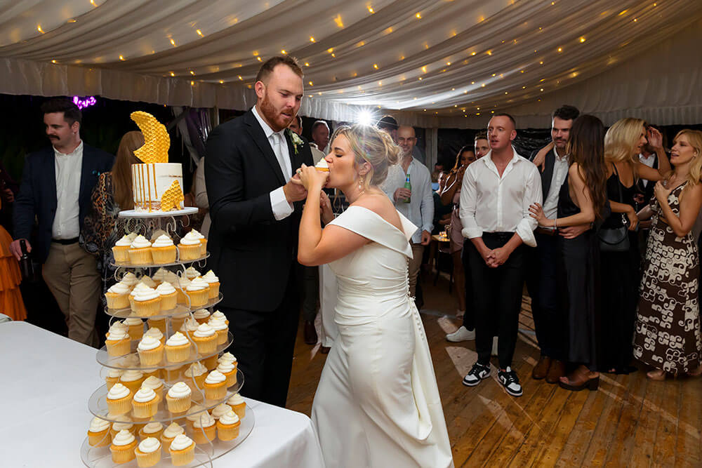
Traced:
<svg viewBox="0 0 702 468">
<path fill-rule="evenodd" d="M 538 203 L 529 210 L 540 226 L 594 225 L 602 219 L 607 203 L 604 166 L 604 126 L 591 115 L 573 123 L 567 152 L 568 175 L 558 194 L 557 218 L 545 218 Z M 561 377 L 559 385 L 569 390 L 595 390 L 600 382 L 598 368 L 600 258 L 595 229 L 567 239 L 559 237 L 559 278 L 562 279 L 562 307 L 567 311 L 568 360 L 573 372 Z"/>
</svg>

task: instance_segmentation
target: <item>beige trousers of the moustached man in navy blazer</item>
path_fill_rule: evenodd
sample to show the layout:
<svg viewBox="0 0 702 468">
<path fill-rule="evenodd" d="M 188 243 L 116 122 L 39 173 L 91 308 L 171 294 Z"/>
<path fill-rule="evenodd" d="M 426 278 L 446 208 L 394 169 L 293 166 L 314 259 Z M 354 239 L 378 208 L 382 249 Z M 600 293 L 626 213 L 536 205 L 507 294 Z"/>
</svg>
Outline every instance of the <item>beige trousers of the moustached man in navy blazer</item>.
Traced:
<svg viewBox="0 0 702 468">
<path fill-rule="evenodd" d="M 95 312 L 100 301 L 101 280 L 93 255 L 79 243 L 64 246 L 52 242 L 41 276 L 66 318 L 68 337 L 97 347 Z"/>
</svg>

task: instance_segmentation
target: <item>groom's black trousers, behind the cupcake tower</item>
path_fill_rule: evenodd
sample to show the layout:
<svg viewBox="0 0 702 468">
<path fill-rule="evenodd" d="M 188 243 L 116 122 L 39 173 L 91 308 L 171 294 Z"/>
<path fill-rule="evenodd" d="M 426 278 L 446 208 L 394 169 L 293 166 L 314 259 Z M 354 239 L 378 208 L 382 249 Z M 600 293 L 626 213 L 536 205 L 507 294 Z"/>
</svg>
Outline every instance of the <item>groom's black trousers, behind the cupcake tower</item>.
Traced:
<svg viewBox="0 0 702 468">
<path fill-rule="evenodd" d="M 241 395 L 282 408 L 288 396 L 300 315 L 297 270 L 291 268 L 283 300 L 270 312 L 220 307 L 234 335 L 229 351 L 244 373 Z"/>
</svg>

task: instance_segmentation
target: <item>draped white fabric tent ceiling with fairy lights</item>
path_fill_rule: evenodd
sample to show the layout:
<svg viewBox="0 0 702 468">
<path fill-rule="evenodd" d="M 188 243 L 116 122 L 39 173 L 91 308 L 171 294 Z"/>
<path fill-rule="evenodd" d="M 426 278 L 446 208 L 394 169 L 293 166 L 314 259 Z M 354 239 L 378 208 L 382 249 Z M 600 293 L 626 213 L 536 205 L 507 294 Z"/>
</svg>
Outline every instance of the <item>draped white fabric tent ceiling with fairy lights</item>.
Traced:
<svg viewBox="0 0 702 468">
<path fill-rule="evenodd" d="M 569 102 L 698 123 L 701 18 L 689 0 L 0 0 L 0 92 L 246 109 L 285 51 L 300 113 L 325 119 L 543 127 Z"/>
</svg>

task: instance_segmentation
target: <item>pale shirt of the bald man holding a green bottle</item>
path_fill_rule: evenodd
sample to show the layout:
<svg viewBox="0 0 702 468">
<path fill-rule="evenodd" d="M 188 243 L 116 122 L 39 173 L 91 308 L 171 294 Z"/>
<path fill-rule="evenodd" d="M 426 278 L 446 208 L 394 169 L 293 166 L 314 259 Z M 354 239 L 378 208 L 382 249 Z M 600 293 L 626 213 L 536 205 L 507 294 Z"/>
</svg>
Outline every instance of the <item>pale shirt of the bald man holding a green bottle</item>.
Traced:
<svg viewBox="0 0 702 468">
<path fill-rule="evenodd" d="M 409 174 L 409 182 L 412 185 L 412 196 L 409 203 L 395 201 L 395 190 L 404 187 L 404 180 Z M 432 232 L 434 228 L 434 199 L 432 196 L 432 177 L 429 169 L 424 164 L 412 158 L 407 173 L 402 170 L 402 163 L 388 168 L 388 177 L 381 187 L 383 192 L 390 197 L 390 201 L 395 203 L 395 208 L 410 220 L 413 225 L 420 226 L 412 236 L 412 243 L 422 241 L 422 232 Z"/>
</svg>

